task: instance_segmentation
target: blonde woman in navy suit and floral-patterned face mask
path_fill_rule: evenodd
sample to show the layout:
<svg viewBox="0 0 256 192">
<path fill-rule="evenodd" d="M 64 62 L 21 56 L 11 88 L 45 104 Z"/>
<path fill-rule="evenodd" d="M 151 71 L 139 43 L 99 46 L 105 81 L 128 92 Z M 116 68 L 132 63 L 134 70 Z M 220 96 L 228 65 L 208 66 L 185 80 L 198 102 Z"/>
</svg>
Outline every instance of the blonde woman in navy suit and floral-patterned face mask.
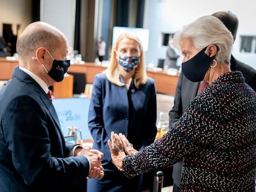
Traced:
<svg viewBox="0 0 256 192">
<path fill-rule="evenodd" d="M 89 179 L 87 191 L 140 191 L 142 175 L 128 179 L 111 162 L 108 140 L 111 131 L 129 138 L 137 150 L 156 136 L 155 81 L 146 76 L 142 43 L 134 33 L 121 33 L 114 43 L 105 72 L 93 81 L 88 128 L 93 149 L 104 152 L 105 177 Z"/>
</svg>

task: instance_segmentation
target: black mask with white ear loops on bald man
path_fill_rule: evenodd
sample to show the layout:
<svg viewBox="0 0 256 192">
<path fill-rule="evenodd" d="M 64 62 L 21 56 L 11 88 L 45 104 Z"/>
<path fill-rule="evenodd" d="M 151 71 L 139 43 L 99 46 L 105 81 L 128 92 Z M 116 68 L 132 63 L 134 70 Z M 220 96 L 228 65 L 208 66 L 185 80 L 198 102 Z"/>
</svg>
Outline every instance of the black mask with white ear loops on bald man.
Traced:
<svg viewBox="0 0 256 192">
<path fill-rule="evenodd" d="M 48 50 L 46 50 L 49 53 Z M 53 59 L 53 57 L 51 56 Z M 43 67 L 45 68 L 46 72 L 48 73 L 49 77 L 53 78 L 54 81 L 59 82 L 64 79 L 64 74 L 67 72 L 67 69 L 70 66 L 70 60 L 56 60 L 53 59 L 53 67 L 51 67 L 51 70 L 49 72 L 46 70 L 45 65 Z"/>
</svg>

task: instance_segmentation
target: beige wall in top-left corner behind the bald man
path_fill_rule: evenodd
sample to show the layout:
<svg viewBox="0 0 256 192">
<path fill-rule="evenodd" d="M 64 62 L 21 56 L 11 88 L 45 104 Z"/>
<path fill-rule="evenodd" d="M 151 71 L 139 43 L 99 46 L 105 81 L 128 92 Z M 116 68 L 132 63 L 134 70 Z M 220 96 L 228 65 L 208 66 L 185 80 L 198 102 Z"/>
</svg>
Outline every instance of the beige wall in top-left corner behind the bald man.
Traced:
<svg viewBox="0 0 256 192">
<path fill-rule="evenodd" d="M 17 24 L 20 24 L 20 31 L 23 31 L 32 22 L 32 1 L 1 0 L 0 36 L 2 36 L 2 23 L 12 24 L 14 35 L 17 35 Z"/>
</svg>

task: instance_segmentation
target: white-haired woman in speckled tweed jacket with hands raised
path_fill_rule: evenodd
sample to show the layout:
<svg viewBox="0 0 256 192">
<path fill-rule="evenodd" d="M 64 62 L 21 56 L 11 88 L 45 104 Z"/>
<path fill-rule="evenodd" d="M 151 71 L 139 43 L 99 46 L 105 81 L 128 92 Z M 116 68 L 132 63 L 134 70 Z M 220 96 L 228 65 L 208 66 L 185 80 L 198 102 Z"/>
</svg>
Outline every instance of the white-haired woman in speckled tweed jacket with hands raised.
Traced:
<svg viewBox="0 0 256 192">
<path fill-rule="evenodd" d="M 254 191 L 256 93 L 241 72 L 230 70 L 233 36 L 207 15 L 177 32 L 174 42 L 184 56 L 184 76 L 209 86 L 163 138 L 142 151 L 130 150 L 124 135 L 111 133 L 113 163 L 131 178 L 183 160 L 181 191 Z"/>
</svg>

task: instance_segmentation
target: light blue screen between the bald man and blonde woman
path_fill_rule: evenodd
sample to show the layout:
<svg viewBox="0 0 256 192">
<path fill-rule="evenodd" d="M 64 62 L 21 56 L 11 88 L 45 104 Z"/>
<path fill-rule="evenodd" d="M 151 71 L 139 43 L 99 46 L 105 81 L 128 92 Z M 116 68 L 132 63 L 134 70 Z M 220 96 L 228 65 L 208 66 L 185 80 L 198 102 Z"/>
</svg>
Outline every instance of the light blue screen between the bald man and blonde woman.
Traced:
<svg viewBox="0 0 256 192">
<path fill-rule="evenodd" d="M 67 127 L 77 127 L 78 140 L 80 140 L 80 135 L 82 135 L 82 140 L 92 139 L 92 135 L 88 130 L 89 104 L 89 98 L 53 99 L 53 105 L 58 114 L 64 136 L 68 136 L 69 129 Z"/>
</svg>

